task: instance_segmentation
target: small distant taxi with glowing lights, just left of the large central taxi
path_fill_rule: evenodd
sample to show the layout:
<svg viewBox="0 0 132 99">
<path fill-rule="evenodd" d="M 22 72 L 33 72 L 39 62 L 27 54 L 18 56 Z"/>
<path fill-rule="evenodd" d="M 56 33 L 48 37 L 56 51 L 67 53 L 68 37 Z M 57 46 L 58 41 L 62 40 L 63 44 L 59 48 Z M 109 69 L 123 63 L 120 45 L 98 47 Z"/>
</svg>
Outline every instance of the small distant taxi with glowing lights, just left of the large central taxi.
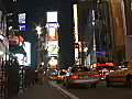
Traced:
<svg viewBox="0 0 132 99">
<path fill-rule="evenodd" d="M 56 82 L 63 82 L 64 81 L 64 77 L 66 76 L 67 74 L 67 70 L 66 69 L 61 69 L 58 70 L 58 74 L 57 74 L 57 78 L 56 78 Z"/>
</svg>

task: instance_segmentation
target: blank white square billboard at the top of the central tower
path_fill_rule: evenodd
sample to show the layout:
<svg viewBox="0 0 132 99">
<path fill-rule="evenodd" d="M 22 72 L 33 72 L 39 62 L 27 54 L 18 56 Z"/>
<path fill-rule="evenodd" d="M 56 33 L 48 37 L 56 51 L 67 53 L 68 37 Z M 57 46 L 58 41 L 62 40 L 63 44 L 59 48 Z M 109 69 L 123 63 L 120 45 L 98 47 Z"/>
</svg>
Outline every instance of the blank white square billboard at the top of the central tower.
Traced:
<svg viewBox="0 0 132 99">
<path fill-rule="evenodd" d="M 57 11 L 46 12 L 46 22 L 57 22 Z"/>
</svg>

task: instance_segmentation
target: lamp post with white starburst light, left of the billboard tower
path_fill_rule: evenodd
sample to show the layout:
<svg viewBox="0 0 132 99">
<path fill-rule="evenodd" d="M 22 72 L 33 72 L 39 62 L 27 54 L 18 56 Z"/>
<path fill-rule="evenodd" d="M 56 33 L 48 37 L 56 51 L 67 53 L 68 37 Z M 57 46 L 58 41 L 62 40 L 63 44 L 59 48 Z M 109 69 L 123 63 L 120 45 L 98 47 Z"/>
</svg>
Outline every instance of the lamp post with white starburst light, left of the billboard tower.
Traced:
<svg viewBox="0 0 132 99">
<path fill-rule="evenodd" d="M 40 55 L 40 50 L 41 50 L 41 41 L 40 41 L 40 35 L 42 34 L 42 28 L 38 25 L 35 29 L 37 31 L 38 35 L 38 50 L 37 50 L 37 68 L 41 65 L 41 55 Z"/>
</svg>

